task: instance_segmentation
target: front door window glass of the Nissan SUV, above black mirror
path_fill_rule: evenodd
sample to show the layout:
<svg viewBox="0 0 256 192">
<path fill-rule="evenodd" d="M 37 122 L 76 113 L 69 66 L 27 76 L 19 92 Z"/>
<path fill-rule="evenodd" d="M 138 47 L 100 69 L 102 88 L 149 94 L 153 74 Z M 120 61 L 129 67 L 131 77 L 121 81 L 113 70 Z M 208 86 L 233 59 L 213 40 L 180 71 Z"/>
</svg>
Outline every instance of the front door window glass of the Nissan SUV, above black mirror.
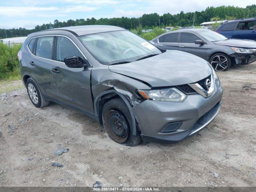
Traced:
<svg viewBox="0 0 256 192">
<path fill-rule="evenodd" d="M 66 37 L 58 37 L 56 45 L 56 60 L 64 62 L 65 58 L 72 56 L 78 56 L 84 59 L 74 43 Z"/>
</svg>

